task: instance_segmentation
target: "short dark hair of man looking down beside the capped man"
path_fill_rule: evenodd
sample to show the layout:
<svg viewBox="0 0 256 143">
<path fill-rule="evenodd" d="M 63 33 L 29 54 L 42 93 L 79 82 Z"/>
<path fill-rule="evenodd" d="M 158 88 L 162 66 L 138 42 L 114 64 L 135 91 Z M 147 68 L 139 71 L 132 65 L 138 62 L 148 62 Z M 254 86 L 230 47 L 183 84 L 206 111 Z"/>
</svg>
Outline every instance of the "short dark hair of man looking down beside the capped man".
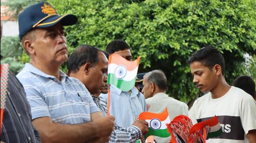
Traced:
<svg viewBox="0 0 256 143">
<path fill-rule="evenodd" d="M 70 72 L 77 72 L 82 65 L 89 62 L 92 67 L 100 60 L 98 52 L 100 49 L 91 45 L 81 45 L 67 59 L 67 69 Z"/>
</svg>

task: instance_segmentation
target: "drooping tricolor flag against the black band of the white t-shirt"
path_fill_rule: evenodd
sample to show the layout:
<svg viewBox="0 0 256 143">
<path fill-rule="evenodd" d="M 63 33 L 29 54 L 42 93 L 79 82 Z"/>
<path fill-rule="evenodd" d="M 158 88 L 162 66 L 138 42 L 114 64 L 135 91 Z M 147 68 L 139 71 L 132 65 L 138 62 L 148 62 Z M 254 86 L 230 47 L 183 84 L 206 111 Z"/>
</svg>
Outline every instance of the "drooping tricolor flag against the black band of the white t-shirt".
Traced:
<svg viewBox="0 0 256 143">
<path fill-rule="evenodd" d="M 206 124 L 209 125 L 209 127 L 210 127 L 210 130 L 207 134 L 207 138 L 209 138 L 209 137 L 218 137 L 222 134 L 222 132 L 223 132 L 222 127 L 219 123 L 219 120 L 218 120 L 217 116 L 214 116 L 213 118 L 210 118 L 208 120 L 205 120 L 205 121 L 202 121 L 200 123 L 197 123 L 197 124 L 193 125 L 191 127 L 191 129 L 189 130 L 189 133 L 193 133 L 195 131 L 201 131 L 202 128 Z"/>
</svg>

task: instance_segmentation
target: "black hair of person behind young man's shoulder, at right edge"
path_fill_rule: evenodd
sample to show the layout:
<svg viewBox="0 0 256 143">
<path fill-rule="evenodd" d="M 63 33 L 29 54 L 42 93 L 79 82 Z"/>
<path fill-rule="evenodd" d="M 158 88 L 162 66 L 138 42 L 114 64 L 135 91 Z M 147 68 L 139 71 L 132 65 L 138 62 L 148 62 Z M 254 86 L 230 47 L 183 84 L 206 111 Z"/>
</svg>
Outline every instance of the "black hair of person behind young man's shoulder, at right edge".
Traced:
<svg viewBox="0 0 256 143">
<path fill-rule="evenodd" d="M 238 76 L 232 84 L 234 87 L 243 89 L 246 93 L 249 93 L 255 99 L 255 82 L 250 76 L 241 75 Z"/>
</svg>

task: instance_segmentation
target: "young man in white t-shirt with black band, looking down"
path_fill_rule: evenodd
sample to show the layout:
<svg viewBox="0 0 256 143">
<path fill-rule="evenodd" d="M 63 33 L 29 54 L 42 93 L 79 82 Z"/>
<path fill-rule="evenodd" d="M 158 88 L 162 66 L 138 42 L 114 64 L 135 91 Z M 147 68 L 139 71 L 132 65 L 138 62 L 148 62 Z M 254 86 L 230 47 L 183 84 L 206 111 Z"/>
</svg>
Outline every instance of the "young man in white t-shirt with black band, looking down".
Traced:
<svg viewBox="0 0 256 143">
<path fill-rule="evenodd" d="M 193 82 L 203 93 L 189 111 L 193 123 L 218 117 L 222 135 L 209 138 L 207 143 L 255 143 L 256 102 L 242 89 L 226 82 L 225 62 L 214 47 L 197 50 L 188 60 Z"/>
</svg>

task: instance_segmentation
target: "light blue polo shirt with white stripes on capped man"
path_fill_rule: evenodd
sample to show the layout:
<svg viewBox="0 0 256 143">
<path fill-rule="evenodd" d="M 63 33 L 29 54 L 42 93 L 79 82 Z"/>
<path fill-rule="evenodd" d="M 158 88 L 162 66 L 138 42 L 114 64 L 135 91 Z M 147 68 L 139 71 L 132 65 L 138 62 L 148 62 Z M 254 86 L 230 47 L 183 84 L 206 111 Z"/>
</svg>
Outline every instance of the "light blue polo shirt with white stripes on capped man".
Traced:
<svg viewBox="0 0 256 143">
<path fill-rule="evenodd" d="M 27 94 L 32 119 L 50 117 L 61 124 L 90 122 L 99 112 L 88 89 L 77 79 L 60 71 L 61 81 L 30 63 L 17 75 Z"/>
</svg>

